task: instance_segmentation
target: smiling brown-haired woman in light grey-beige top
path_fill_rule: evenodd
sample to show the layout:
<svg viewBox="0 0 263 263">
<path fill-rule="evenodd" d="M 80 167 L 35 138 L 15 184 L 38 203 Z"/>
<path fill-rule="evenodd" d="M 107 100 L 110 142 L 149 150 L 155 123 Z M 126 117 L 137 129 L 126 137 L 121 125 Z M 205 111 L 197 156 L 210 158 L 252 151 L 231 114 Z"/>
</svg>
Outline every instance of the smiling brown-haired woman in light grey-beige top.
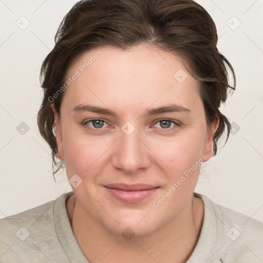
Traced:
<svg viewBox="0 0 263 263">
<path fill-rule="evenodd" d="M 1 262 L 262 261 L 263 224 L 194 192 L 235 88 L 211 16 L 191 0 L 80 1 L 55 40 L 38 125 L 73 191 L 2 219 Z"/>
</svg>

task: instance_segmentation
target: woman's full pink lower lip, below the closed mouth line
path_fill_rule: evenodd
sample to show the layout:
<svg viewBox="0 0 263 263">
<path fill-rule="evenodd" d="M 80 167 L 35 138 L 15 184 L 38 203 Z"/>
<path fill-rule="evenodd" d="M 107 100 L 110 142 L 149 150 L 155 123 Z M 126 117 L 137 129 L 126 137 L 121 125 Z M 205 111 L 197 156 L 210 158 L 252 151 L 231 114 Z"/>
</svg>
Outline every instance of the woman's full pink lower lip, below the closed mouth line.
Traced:
<svg viewBox="0 0 263 263">
<path fill-rule="evenodd" d="M 138 203 L 144 200 L 145 198 L 153 195 L 159 189 L 159 187 L 156 187 L 154 189 L 149 189 L 149 190 L 124 191 L 120 189 L 109 188 L 106 186 L 105 188 L 113 197 L 126 203 Z"/>
</svg>

